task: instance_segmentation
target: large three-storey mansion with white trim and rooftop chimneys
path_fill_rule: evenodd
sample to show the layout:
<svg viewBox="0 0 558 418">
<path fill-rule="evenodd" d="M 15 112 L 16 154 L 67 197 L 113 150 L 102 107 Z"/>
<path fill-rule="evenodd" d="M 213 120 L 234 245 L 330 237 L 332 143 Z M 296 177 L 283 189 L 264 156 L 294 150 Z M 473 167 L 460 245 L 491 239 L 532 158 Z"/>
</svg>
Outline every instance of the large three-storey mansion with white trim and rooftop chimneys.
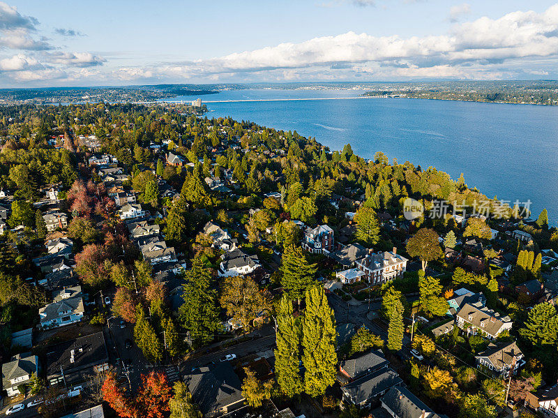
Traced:
<svg viewBox="0 0 558 418">
<path fill-rule="evenodd" d="M 407 258 L 393 251 L 369 253 L 356 262 L 356 268 L 364 271 L 368 283 L 375 285 L 402 277 L 407 269 Z"/>
</svg>

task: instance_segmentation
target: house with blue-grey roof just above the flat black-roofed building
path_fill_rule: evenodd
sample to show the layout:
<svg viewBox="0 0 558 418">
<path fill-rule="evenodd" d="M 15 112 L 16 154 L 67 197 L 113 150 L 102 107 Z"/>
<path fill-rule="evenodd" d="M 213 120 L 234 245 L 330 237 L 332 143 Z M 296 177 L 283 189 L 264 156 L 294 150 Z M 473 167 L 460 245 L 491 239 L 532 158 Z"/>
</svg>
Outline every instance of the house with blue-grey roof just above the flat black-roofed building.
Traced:
<svg viewBox="0 0 558 418">
<path fill-rule="evenodd" d="M 63 327 L 80 322 L 84 313 L 81 286 L 53 292 L 52 303 L 39 309 L 40 327 Z"/>
</svg>

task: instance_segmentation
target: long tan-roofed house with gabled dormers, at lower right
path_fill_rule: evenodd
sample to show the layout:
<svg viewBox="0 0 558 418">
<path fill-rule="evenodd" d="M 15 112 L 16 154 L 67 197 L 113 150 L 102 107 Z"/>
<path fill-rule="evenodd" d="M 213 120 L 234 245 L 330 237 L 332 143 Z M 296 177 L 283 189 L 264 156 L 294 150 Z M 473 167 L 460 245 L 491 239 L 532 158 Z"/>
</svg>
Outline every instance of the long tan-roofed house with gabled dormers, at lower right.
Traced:
<svg viewBox="0 0 558 418">
<path fill-rule="evenodd" d="M 456 323 L 467 335 L 481 334 L 491 340 L 510 330 L 513 324 L 508 316 L 502 317 L 481 303 L 465 304 L 458 312 Z"/>
</svg>

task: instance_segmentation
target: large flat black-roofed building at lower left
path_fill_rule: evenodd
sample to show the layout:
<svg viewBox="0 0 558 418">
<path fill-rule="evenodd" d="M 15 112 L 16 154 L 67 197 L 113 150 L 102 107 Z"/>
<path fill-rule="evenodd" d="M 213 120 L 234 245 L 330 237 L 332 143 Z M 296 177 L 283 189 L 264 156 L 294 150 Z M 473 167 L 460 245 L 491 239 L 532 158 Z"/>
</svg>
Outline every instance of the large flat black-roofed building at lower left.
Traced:
<svg viewBox="0 0 558 418">
<path fill-rule="evenodd" d="M 96 371 L 108 370 L 108 353 L 103 331 L 47 347 L 47 382 L 75 385 Z"/>
</svg>

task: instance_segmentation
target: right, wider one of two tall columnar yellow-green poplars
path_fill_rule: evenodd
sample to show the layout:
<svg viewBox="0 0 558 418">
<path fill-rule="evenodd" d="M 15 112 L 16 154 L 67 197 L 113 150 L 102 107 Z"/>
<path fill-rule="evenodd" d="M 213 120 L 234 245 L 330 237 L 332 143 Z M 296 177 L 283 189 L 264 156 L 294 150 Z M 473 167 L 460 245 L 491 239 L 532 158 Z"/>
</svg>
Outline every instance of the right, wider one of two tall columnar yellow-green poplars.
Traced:
<svg viewBox="0 0 558 418">
<path fill-rule="evenodd" d="M 306 368 L 304 390 L 312 397 L 323 395 L 335 382 L 337 354 L 335 317 L 324 288 L 306 292 L 306 311 L 302 321 L 302 362 Z"/>
</svg>

